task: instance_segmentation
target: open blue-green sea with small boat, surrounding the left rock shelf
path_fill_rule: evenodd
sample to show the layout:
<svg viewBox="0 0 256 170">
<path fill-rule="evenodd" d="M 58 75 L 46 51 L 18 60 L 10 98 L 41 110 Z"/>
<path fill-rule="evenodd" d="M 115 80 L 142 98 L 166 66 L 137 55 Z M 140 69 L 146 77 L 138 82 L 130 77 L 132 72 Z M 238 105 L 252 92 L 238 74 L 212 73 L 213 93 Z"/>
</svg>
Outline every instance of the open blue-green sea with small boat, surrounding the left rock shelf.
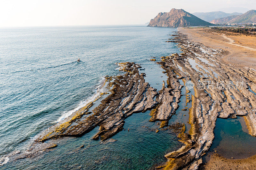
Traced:
<svg viewBox="0 0 256 170">
<path fill-rule="evenodd" d="M 117 62 L 140 63 L 146 81 L 161 89 L 167 77 L 149 59 L 179 52 L 165 42 L 174 31 L 146 26 L 0 29 L 0 157 L 25 150 L 36 135 L 92 99 L 104 76 L 120 74 Z M 145 128 L 157 127 L 149 118 L 149 111 L 127 118 L 124 128 L 131 130 L 115 135 L 116 142 L 93 141 L 96 128 L 68 138 L 52 152 L 0 169 L 151 168 L 180 143 L 171 132 Z"/>
</svg>

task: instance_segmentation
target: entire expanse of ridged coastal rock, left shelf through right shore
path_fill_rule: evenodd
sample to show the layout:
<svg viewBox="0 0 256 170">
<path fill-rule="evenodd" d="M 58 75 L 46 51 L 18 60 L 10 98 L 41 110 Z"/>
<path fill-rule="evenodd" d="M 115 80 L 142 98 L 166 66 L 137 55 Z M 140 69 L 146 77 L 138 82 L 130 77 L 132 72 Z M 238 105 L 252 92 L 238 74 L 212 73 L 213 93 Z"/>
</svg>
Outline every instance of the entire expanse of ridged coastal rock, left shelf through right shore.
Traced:
<svg viewBox="0 0 256 170">
<path fill-rule="evenodd" d="M 99 131 L 93 139 L 106 140 L 123 129 L 127 117 L 147 110 L 151 110 L 149 121 L 159 121 L 159 129 L 164 128 L 179 107 L 183 86 L 186 94 L 192 88 L 195 92 L 191 99 L 186 97 L 187 102 L 192 102 L 190 129 L 185 133 L 183 125 L 178 137 L 184 145 L 166 154 L 168 161 L 156 169 L 197 169 L 212 145 L 217 118 L 243 116 L 249 134 L 256 136 L 256 70 L 223 63 L 226 52 L 221 49 L 190 42 L 183 34 L 172 36 L 172 41 L 167 42 L 177 42 L 182 53 L 157 62 L 168 76 L 160 91 L 145 82 L 140 65 L 119 63 L 124 74 L 106 78 L 104 87 L 108 92 L 47 129 L 27 151 L 9 157 L 15 160 L 34 156 L 56 147 L 58 139 L 79 137 L 97 127 Z"/>
</svg>

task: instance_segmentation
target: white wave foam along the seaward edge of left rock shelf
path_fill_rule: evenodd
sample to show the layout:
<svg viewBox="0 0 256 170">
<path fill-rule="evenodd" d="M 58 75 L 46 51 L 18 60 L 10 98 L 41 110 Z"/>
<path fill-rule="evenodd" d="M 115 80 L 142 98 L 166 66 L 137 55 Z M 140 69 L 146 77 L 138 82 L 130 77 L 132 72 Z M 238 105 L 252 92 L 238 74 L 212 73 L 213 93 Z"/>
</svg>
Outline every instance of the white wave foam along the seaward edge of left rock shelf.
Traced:
<svg viewBox="0 0 256 170">
<path fill-rule="evenodd" d="M 64 113 L 59 117 L 59 119 L 56 120 L 54 123 L 57 123 L 57 122 L 60 122 L 60 121 L 64 120 L 64 119 L 67 118 L 68 116 L 72 115 L 72 113 L 74 113 L 74 112 L 76 112 L 77 110 L 79 110 L 80 108 L 86 106 L 88 103 L 94 101 L 94 100 L 100 95 L 100 93 L 103 92 L 103 89 L 101 89 L 100 87 L 102 86 L 102 83 L 103 83 L 104 80 L 105 80 L 105 78 L 101 78 L 99 85 L 96 86 L 96 88 L 95 88 L 96 92 L 95 92 L 91 97 L 89 97 L 89 98 L 87 98 L 86 100 L 80 102 L 79 105 L 78 105 L 76 108 L 64 112 Z"/>
</svg>

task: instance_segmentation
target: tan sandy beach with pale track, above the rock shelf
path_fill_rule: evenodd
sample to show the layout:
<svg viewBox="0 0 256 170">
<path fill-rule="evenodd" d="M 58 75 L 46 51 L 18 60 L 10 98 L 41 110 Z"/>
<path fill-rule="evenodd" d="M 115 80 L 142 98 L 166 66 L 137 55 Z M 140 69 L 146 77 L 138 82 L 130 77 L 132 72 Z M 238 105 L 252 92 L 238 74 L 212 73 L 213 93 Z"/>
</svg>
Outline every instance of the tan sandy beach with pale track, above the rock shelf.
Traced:
<svg viewBox="0 0 256 170">
<path fill-rule="evenodd" d="M 227 51 L 227 55 L 223 58 L 225 63 L 237 67 L 256 68 L 256 37 L 234 33 L 233 35 L 223 35 L 212 32 L 210 28 L 178 28 L 178 30 L 188 35 L 188 39 L 191 41 Z"/>
</svg>

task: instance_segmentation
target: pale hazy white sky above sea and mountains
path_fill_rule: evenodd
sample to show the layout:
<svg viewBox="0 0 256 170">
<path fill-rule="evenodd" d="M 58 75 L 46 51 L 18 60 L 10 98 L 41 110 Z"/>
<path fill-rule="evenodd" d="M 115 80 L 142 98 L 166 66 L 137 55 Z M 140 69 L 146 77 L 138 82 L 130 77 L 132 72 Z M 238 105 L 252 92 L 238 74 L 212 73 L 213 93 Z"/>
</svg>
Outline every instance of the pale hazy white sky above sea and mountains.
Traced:
<svg viewBox="0 0 256 170">
<path fill-rule="evenodd" d="M 145 24 L 172 8 L 256 9 L 256 0 L 0 0 L 0 27 Z M 222 9 L 223 10 L 223 9 Z"/>
</svg>

